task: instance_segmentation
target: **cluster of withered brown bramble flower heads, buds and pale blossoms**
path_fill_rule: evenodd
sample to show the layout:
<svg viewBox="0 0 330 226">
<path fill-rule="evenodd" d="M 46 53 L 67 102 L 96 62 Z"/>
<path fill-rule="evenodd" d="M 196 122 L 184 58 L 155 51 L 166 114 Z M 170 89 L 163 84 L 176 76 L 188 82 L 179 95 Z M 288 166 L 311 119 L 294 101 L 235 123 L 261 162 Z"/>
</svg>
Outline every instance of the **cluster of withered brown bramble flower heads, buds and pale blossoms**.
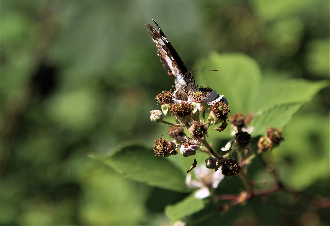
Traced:
<svg viewBox="0 0 330 226">
<path fill-rule="evenodd" d="M 248 126 L 252 115 L 236 113 L 229 118 L 234 138 L 225 147 L 216 151 L 206 140 L 208 129 L 219 123 L 214 129 L 221 132 L 227 127 L 230 113 L 227 99 L 209 87 L 191 86 L 188 91 L 176 89 L 162 91 L 155 99 L 161 105 L 160 110 L 150 111 L 150 120 L 154 123 L 164 123 L 169 126 L 168 136 L 171 141 L 161 137 L 154 142 L 154 153 L 163 157 L 176 155 L 194 156 L 197 151 L 210 155 L 204 165 L 197 165 L 196 159 L 187 171 L 186 184 L 189 188 L 199 188 L 196 198 L 205 198 L 211 194 L 219 182 L 226 177 L 228 180 L 238 175 L 241 167 L 247 165 L 253 157 L 252 138 L 253 127 Z M 172 116 L 172 122 L 165 117 Z M 259 152 L 270 150 L 283 140 L 280 130 L 271 128 L 267 137 L 260 138 Z M 225 152 L 225 154 L 222 154 Z M 233 154 L 237 154 L 236 160 Z M 194 169 L 194 170 L 193 170 Z M 220 169 L 220 170 L 219 170 Z M 193 170 L 195 180 L 189 173 Z"/>
</svg>

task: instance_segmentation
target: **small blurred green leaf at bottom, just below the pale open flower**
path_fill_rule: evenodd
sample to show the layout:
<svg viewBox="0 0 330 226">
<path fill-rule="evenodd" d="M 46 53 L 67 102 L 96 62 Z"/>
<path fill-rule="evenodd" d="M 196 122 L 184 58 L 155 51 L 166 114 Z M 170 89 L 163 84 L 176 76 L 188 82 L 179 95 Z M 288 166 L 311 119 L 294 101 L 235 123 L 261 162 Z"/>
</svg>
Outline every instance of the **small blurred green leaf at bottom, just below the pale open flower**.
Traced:
<svg viewBox="0 0 330 226">
<path fill-rule="evenodd" d="M 208 203 L 208 199 L 196 199 L 194 195 L 195 193 L 192 192 L 180 202 L 166 206 L 166 216 L 172 221 L 176 221 L 204 209 Z"/>
</svg>

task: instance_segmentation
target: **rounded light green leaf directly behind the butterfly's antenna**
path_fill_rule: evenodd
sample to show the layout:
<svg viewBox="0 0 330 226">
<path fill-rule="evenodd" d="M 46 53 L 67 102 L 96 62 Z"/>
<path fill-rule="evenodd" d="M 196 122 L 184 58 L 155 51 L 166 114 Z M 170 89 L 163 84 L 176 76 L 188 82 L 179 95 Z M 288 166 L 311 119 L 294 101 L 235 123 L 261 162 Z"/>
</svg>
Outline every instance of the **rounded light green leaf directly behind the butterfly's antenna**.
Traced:
<svg viewBox="0 0 330 226">
<path fill-rule="evenodd" d="M 202 72 L 196 77 L 197 84 L 212 87 L 224 95 L 233 113 L 248 113 L 258 94 L 261 72 L 255 60 L 244 54 L 213 53 L 198 65 L 200 70 L 219 69 L 217 72 Z"/>
</svg>

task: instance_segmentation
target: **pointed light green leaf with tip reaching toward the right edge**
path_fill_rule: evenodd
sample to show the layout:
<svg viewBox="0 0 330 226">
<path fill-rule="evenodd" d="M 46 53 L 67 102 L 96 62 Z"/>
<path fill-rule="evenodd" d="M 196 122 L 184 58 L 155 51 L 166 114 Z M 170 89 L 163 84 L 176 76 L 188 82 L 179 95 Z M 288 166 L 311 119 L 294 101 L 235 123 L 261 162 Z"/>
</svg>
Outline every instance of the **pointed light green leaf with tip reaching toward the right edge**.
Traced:
<svg viewBox="0 0 330 226">
<path fill-rule="evenodd" d="M 253 135 L 265 134 L 269 127 L 283 129 L 300 107 L 327 87 L 327 81 L 268 80 L 263 82 L 259 98 L 255 101 Z M 259 104 L 257 104 L 259 103 Z"/>
</svg>

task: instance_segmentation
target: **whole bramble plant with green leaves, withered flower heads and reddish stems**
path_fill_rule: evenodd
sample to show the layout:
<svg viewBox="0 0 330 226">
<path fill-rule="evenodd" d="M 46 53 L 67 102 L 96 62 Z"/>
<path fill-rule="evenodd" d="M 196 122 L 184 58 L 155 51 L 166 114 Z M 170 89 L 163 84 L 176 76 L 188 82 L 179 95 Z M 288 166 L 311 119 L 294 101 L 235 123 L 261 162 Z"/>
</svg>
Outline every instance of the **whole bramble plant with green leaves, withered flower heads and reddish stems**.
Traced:
<svg viewBox="0 0 330 226">
<path fill-rule="evenodd" d="M 107 157 L 90 156 L 130 180 L 190 192 L 165 207 L 166 216 L 177 225 L 192 224 L 191 220 L 198 224 L 207 216 L 279 191 L 299 195 L 289 177 L 279 173 L 272 153 L 281 148 L 285 137 L 281 130 L 293 114 L 327 83 L 262 80 L 257 63 L 242 54 L 214 53 L 198 68 L 219 72 L 196 75 L 196 88 L 161 91 L 156 96 L 159 108 L 148 110 L 155 126 L 164 128 L 163 136 L 155 137 L 153 150 L 152 144 L 134 142 Z M 252 166 L 264 168 L 272 179 L 256 180 Z M 228 183 L 238 178 L 241 185 L 235 183 L 237 189 L 224 193 L 224 178 L 232 179 Z M 197 215 L 186 218 L 193 214 Z"/>
</svg>

